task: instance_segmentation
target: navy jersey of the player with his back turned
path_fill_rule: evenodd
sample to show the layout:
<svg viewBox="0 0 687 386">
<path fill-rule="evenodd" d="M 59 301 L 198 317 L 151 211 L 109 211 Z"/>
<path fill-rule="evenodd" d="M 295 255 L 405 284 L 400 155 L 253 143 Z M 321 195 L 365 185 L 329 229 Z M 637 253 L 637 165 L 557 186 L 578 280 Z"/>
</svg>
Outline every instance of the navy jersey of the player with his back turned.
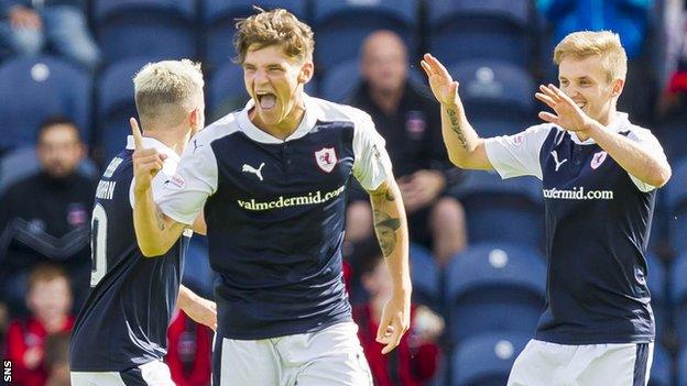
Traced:
<svg viewBox="0 0 687 386">
<path fill-rule="evenodd" d="M 156 140 L 146 147 L 166 154 L 153 179 L 153 196 L 173 176 L 178 155 Z M 133 139 L 115 157 L 96 190 L 91 222 L 91 290 L 72 334 L 75 372 L 123 372 L 166 354 L 166 331 L 176 306 L 185 235 L 163 256 L 144 257 L 133 229 Z"/>
</svg>

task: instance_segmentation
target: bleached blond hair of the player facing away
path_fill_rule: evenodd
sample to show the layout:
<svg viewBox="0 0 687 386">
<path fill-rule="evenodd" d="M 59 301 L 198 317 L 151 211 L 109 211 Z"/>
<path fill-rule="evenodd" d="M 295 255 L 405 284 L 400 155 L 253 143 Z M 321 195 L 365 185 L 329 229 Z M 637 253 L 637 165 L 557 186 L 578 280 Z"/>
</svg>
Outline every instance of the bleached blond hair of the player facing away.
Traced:
<svg viewBox="0 0 687 386">
<path fill-rule="evenodd" d="M 141 124 L 178 125 L 203 98 L 200 65 L 188 59 L 149 63 L 134 76 L 135 103 Z"/>
</svg>

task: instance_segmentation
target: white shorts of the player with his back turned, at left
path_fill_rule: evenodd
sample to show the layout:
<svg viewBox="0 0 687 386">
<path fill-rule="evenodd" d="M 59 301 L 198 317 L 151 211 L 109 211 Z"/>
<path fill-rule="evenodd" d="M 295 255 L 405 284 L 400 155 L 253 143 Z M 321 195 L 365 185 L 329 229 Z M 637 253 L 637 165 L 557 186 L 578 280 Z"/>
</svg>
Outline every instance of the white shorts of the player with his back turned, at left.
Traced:
<svg viewBox="0 0 687 386">
<path fill-rule="evenodd" d="M 72 386 L 175 386 L 170 367 L 149 362 L 126 372 L 72 372 Z"/>
</svg>

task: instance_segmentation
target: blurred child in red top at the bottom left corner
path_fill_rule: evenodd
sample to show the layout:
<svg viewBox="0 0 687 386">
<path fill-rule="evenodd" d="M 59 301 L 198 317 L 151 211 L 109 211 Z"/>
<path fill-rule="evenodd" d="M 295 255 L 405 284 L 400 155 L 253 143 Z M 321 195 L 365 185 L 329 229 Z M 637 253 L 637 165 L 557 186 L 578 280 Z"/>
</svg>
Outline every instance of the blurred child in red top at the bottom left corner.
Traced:
<svg viewBox="0 0 687 386">
<path fill-rule="evenodd" d="M 48 373 L 45 364 L 46 339 L 68 334 L 74 326 L 72 290 L 64 271 L 50 265 L 33 269 L 29 278 L 26 305 L 31 316 L 10 324 L 6 357 L 12 361 L 12 381 L 17 385 L 43 386 L 48 375 L 57 375 Z M 55 356 L 51 355 L 51 360 Z"/>
</svg>

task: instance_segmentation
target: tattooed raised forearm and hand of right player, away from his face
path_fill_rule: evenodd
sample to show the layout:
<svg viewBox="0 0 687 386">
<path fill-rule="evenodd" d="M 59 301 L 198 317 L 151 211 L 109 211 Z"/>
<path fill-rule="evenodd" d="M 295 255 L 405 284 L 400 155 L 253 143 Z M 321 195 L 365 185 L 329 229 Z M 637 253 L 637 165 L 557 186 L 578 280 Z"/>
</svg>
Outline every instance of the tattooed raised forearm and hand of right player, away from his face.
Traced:
<svg viewBox="0 0 687 386">
<path fill-rule="evenodd" d="M 458 96 L 458 82 L 429 54 L 425 54 L 421 65 L 427 74 L 434 97 L 441 103 L 441 134 L 451 163 L 466 169 L 493 169 L 487 157 L 484 141 L 479 137 L 465 114 Z"/>
</svg>

